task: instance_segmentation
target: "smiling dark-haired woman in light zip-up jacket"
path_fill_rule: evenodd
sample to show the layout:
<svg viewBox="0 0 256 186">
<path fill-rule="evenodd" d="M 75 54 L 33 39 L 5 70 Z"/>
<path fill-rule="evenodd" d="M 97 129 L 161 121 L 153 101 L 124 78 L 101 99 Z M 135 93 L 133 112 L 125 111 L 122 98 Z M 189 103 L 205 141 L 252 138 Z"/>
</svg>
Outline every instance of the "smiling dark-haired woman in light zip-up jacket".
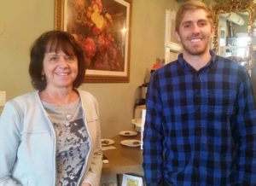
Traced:
<svg viewBox="0 0 256 186">
<path fill-rule="evenodd" d="M 45 32 L 32 45 L 29 73 L 37 91 L 3 109 L 0 185 L 99 185 L 98 106 L 77 90 L 84 72 L 83 52 L 67 32 Z"/>
</svg>

